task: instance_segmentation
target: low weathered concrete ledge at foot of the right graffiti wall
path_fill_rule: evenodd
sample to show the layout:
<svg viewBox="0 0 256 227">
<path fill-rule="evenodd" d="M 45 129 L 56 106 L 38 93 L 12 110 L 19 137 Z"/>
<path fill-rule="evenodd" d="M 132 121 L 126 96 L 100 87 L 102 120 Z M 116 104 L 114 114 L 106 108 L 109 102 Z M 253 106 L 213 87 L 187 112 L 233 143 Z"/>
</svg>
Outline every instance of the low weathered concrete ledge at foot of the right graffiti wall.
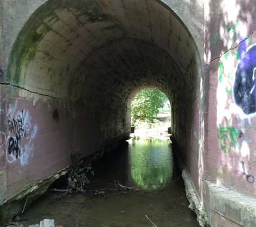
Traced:
<svg viewBox="0 0 256 227">
<path fill-rule="evenodd" d="M 207 181 L 205 190 L 211 226 L 247 226 L 256 223 L 256 198 Z M 230 224 L 228 224 L 230 223 Z"/>
</svg>

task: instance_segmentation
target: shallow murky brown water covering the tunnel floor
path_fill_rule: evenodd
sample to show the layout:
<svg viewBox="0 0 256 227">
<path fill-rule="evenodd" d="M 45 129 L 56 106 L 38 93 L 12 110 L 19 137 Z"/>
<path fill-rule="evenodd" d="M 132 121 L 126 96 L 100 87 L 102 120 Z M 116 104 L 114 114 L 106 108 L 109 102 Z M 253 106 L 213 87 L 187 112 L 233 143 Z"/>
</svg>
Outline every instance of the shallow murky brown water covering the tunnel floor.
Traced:
<svg viewBox="0 0 256 227">
<path fill-rule="evenodd" d="M 131 139 L 127 148 L 98 162 L 94 172 L 89 176 L 93 184 L 88 188 L 93 191 L 61 199 L 63 193 L 50 192 L 24 212 L 22 219 L 28 220 L 22 224 L 28 226 L 49 218 L 64 227 L 151 227 L 151 222 L 158 227 L 199 226 L 196 215 L 188 208 L 169 140 Z M 94 195 L 94 189 L 115 188 L 114 181 L 127 187 L 144 186 L 133 188 L 134 191 L 106 190 L 105 195 Z"/>
</svg>

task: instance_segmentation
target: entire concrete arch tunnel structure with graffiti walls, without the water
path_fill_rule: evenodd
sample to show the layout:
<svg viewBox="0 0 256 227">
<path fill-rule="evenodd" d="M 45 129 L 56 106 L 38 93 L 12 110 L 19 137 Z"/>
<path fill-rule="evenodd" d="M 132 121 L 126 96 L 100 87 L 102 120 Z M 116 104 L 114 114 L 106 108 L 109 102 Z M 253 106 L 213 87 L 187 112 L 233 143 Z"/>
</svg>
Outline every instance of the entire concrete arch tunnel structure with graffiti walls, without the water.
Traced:
<svg viewBox="0 0 256 227">
<path fill-rule="evenodd" d="M 0 225 L 71 154 L 112 154 L 152 88 L 199 224 L 255 226 L 255 18 L 255 1 L 2 0 Z"/>
</svg>

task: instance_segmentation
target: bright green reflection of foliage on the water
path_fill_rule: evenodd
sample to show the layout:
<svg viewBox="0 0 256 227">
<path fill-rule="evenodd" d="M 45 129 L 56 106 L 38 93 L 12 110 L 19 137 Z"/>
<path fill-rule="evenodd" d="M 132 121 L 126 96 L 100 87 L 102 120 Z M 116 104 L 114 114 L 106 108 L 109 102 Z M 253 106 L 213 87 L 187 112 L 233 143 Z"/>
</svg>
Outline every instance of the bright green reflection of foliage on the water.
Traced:
<svg viewBox="0 0 256 227">
<path fill-rule="evenodd" d="M 173 173 L 173 157 L 168 140 L 156 138 L 133 139 L 129 147 L 129 163 L 133 179 L 137 185 L 145 189 L 156 189 L 160 183 L 171 180 Z"/>
</svg>

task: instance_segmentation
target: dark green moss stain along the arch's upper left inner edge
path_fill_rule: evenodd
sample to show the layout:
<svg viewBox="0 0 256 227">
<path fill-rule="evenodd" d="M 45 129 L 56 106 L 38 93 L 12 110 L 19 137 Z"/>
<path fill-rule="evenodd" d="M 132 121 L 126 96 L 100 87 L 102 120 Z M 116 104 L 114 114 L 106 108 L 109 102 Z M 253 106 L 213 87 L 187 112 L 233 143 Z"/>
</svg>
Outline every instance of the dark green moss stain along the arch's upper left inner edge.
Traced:
<svg viewBox="0 0 256 227">
<path fill-rule="evenodd" d="M 43 40 L 45 34 L 52 31 L 51 26 L 47 22 L 54 20 L 54 23 L 56 23 L 60 20 L 56 14 L 56 10 L 72 12 L 80 24 L 82 22 L 79 18 L 84 16 L 86 16 L 88 23 L 110 19 L 109 15 L 102 13 L 98 3 L 92 0 L 61 2 L 59 0 L 51 0 L 46 2 L 33 13 L 16 38 L 10 53 L 5 82 L 15 84 L 19 87 L 24 86 L 22 84 L 23 80 L 20 78 L 20 76 L 23 76 L 21 75 L 22 70 L 27 68 L 29 63 L 34 60 L 38 52 L 38 44 Z M 46 18 L 47 22 L 45 20 Z"/>
</svg>

